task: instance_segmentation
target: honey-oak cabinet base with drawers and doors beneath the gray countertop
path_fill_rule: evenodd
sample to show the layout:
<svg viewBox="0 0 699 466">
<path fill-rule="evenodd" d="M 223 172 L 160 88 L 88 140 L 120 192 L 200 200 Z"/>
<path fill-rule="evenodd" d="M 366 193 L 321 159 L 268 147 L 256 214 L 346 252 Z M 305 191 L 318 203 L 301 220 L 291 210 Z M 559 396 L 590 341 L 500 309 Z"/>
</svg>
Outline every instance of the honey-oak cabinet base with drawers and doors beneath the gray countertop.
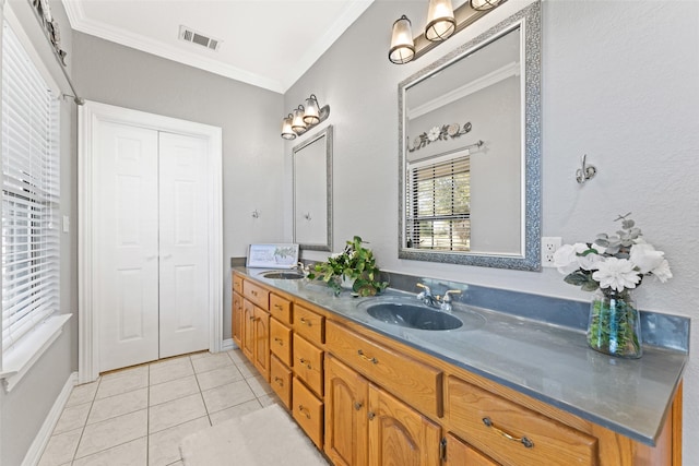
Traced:
<svg viewBox="0 0 699 466">
<path fill-rule="evenodd" d="M 234 339 L 334 465 L 682 465 L 682 384 L 651 447 L 283 295 L 234 276 Z"/>
</svg>

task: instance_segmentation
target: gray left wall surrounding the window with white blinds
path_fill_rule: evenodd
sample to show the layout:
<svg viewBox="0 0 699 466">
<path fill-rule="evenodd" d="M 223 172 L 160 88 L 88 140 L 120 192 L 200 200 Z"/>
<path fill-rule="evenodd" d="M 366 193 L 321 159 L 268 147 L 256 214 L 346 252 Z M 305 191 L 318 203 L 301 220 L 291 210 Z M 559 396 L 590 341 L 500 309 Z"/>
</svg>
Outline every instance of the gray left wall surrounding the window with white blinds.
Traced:
<svg viewBox="0 0 699 466">
<path fill-rule="evenodd" d="M 39 52 L 43 62 L 66 93 L 70 87 L 51 55 L 43 31 L 34 17 L 29 2 L 9 2 L 24 31 Z M 51 1 L 51 13 L 61 31 L 70 32 L 70 24 L 59 1 Z M 73 61 L 71 34 L 63 34 L 61 48 L 68 51 L 68 70 Z M 19 465 L 26 455 L 46 416 L 78 367 L 78 256 L 74 121 L 72 99 L 61 101 L 61 214 L 70 217 L 71 231 L 61 234 L 61 313 L 73 313 L 63 333 L 29 372 L 9 394 L 0 390 L 0 464 Z"/>
</svg>

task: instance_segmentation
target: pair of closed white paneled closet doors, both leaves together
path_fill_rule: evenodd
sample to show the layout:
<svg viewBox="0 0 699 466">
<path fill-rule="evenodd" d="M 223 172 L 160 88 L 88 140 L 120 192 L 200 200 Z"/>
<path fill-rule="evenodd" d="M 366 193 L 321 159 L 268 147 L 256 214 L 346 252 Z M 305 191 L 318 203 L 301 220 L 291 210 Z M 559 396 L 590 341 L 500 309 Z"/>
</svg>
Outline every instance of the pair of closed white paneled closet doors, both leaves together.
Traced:
<svg viewBox="0 0 699 466">
<path fill-rule="evenodd" d="M 99 370 L 209 348 L 206 142 L 97 130 Z"/>
</svg>

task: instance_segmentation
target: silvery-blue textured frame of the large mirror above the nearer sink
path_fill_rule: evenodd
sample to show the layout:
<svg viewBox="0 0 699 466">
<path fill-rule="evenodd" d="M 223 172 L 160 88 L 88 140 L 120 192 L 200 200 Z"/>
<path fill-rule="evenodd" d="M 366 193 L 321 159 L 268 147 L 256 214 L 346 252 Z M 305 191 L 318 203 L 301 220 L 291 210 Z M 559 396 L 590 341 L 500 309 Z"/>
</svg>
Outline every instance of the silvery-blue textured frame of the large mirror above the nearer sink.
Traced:
<svg viewBox="0 0 699 466">
<path fill-rule="evenodd" d="M 405 111 L 404 98 L 408 87 L 438 73 L 449 64 L 486 46 L 505 34 L 522 31 L 524 44 L 524 108 L 523 151 L 524 194 L 523 212 L 523 255 L 495 253 L 442 252 L 405 248 Z M 525 7 L 512 16 L 495 25 L 486 33 L 451 51 L 440 60 L 418 71 L 399 84 L 399 259 L 429 261 L 449 264 L 476 265 L 486 267 L 523 271 L 541 270 L 541 4 L 540 1 Z"/>
</svg>

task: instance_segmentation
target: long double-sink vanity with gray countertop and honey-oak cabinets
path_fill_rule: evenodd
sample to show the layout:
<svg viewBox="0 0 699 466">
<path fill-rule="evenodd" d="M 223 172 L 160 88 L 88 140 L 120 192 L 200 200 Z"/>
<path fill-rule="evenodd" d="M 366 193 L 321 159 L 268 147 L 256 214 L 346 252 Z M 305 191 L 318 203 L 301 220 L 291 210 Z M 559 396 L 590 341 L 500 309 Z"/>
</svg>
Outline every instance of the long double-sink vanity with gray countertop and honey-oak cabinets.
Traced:
<svg viewBox="0 0 699 466">
<path fill-rule="evenodd" d="M 396 325 L 368 310 L 414 294 L 276 277 L 234 270 L 233 337 L 335 465 L 682 464 L 685 351 L 615 359 L 582 332 L 461 304 L 458 328 Z"/>
</svg>

